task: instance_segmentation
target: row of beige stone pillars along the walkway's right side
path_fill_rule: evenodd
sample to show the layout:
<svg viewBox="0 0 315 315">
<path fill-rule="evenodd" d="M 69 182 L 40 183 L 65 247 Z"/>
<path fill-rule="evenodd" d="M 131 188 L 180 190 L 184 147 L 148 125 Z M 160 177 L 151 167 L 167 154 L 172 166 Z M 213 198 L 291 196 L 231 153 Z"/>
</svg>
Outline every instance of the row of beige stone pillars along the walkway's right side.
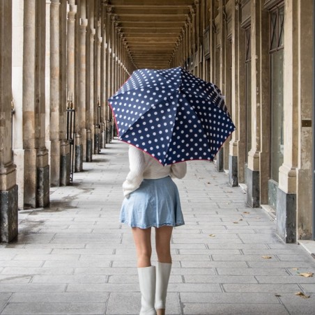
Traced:
<svg viewBox="0 0 315 315">
<path fill-rule="evenodd" d="M 275 183 L 270 180 L 270 31 L 266 30 L 270 28 L 270 10 L 279 5 L 284 6 L 285 79 L 279 86 L 284 93 L 284 161 L 279 167 L 279 183 Z M 277 217 L 277 233 L 289 243 L 311 238 L 314 230 L 309 198 L 314 88 L 309 60 L 313 52 L 312 40 L 308 40 L 312 38 L 313 5 L 312 0 L 194 1 L 171 59 L 171 66 L 186 66 L 187 60 L 192 61 L 190 72 L 220 87 L 236 131 L 217 154 L 217 170 L 228 172 L 232 186 L 247 186 L 249 206 L 268 208 L 270 202 L 274 203 L 271 210 Z M 245 30 L 249 27 L 251 69 L 247 86 Z M 210 45 L 208 59 L 204 54 L 206 41 Z M 246 99 L 246 89 L 250 89 L 250 100 Z M 246 125 L 246 102 L 250 103 L 250 126 Z M 247 128 L 252 130 L 248 152 Z"/>
</svg>

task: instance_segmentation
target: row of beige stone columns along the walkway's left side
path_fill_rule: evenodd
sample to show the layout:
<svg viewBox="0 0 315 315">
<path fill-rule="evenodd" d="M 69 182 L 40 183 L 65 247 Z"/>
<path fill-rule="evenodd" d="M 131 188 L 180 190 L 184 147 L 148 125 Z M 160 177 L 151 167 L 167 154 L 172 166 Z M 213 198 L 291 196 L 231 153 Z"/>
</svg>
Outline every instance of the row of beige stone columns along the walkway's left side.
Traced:
<svg viewBox="0 0 315 315">
<path fill-rule="evenodd" d="M 49 187 L 70 183 L 71 158 L 82 171 L 114 137 L 107 99 L 135 66 L 107 1 L 1 1 L 0 20 L 0 242 L 9 242 L 17 209 L 48 206 Z"/>
</svg>

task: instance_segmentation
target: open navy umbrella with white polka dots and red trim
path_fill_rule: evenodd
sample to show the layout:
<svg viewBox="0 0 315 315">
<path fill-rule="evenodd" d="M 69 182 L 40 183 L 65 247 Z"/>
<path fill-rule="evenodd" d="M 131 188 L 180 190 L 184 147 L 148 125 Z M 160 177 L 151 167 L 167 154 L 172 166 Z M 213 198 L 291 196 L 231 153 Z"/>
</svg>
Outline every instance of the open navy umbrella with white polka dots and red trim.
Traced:
<svg viewBox="0 0 315 315">
<path fill-rule="evenodd" d="M 180 67 L 136 70 L 108 101 L 119 139 L 163 165 L 213 160 L 236 129 L 217 86 Z"/>
</svg>

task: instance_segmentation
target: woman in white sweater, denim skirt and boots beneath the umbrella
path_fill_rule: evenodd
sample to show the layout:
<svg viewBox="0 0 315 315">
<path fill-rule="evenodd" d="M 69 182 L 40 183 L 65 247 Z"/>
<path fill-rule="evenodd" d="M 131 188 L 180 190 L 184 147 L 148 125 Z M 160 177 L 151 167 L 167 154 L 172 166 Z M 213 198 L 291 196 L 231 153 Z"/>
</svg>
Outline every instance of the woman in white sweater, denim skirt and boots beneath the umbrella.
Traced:
<svg viewBox="0 0 315 315">
<path fill-rule="evenodd" d="M 171 273 L 171 233 L 185 224 L 176 184 L 186 162 L 162 166 L 151 155 L 129 147 L 130 172 L 123 183 L 120 220 L 132 228 L 141 291 L 140 315 L 164 315 Z M 157 266 L 151 266 L 151 227 L 155 227 Z"/>
</svg>

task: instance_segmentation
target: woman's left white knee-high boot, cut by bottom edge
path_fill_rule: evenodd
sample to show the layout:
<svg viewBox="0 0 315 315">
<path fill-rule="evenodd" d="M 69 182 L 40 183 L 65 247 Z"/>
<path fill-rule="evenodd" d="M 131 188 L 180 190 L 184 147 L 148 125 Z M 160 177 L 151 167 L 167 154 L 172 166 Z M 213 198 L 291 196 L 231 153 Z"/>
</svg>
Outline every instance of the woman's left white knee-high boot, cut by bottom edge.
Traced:
<svg viewBox="0 0 315 315">
<path fill-rule="evenodd" d="M 138 268 L 139 285 L 141 291 L 140 315 L 156 315 L 155 299 L 155 266 Z"/>
</svg>

